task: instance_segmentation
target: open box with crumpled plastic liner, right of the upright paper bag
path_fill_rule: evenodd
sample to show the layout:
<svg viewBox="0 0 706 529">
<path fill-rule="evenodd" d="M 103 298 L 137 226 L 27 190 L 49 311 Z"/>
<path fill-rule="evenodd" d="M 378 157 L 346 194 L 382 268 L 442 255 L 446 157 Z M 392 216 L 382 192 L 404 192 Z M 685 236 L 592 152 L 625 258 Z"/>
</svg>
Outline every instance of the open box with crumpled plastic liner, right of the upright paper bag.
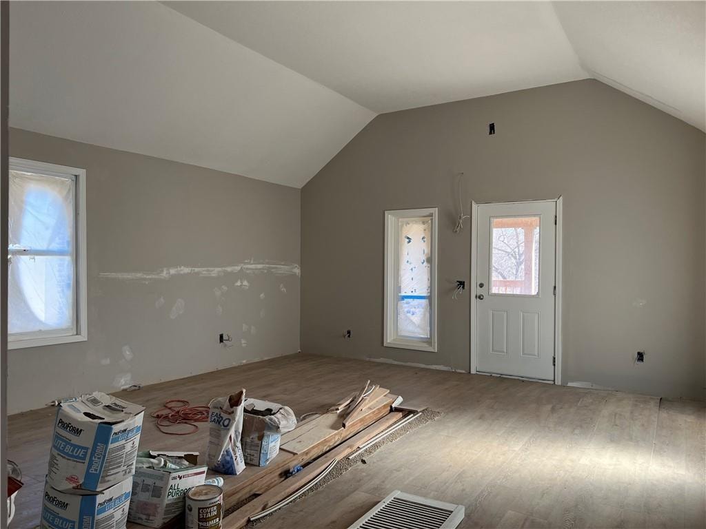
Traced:
<svg viewBox="0 0 706 529">
<path fill-rule="evenodd" d="M 292 408 L 275 402 L 245 399 L 241 436 L 245 462 L 266 466 L 279 453 L 282 434 L 296 426 L 297 417 Z"/>
</svg>

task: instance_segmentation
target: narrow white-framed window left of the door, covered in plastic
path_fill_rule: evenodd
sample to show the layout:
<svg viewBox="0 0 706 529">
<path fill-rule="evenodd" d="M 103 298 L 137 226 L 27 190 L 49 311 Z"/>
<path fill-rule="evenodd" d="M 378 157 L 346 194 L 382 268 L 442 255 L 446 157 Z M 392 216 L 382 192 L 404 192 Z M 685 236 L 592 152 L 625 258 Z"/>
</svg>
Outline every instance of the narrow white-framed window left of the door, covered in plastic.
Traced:
<svg viewBox="0 0 706 529">
<path fill-rule="evenodd" d="M 437 215 L 385 212 L 385 346 L 436 351 Z"/>
</svg>

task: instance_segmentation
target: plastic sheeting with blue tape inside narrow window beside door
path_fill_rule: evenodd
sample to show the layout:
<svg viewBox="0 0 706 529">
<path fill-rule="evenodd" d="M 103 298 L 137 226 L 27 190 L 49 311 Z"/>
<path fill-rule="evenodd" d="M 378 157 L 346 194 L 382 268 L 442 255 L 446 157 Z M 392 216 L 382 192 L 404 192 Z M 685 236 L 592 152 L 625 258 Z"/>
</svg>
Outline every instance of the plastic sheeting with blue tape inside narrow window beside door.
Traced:
<svg viewBox="0 0 706 529">
<path fill-rule="evenodd" d="M 400 293 L 397 334 L 429 338 L 431 332 L 431 218 L 400 219 Z"/>
</svg>

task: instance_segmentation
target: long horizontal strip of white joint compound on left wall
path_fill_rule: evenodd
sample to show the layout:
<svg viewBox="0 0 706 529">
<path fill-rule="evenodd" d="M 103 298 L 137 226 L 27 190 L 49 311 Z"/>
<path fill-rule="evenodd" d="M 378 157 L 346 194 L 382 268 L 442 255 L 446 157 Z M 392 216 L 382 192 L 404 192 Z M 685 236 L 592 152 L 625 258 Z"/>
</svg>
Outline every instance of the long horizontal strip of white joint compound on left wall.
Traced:
<svg viewBox="0 0 706 529">
<path fill-rule="evenodd" d="M 227 267 L 167 267 L 155 272 L 100 272 L 101 279 L 119 279 L 121 281 L 138 281 L 149 283 L 150 281 L 163 281 L 174 276 L 196 275 L 201 277 L 218 277 L 224 274 L 237 274 L 246 272 L 249 274 L 264 274 L 271 272 L 275 276 L 299 276 L 299 265 L 292 262 L 271 262 L 271 261 L 251 261 L 248 260 L 238 265 Z M 235 284 L 241 288 L 248 288 L 247 281 L 240 280 Z M 227 288 L 226 288 L 227 290 Z M 218 295 L 220 296 L 220 294 Z"/>
</svg>

